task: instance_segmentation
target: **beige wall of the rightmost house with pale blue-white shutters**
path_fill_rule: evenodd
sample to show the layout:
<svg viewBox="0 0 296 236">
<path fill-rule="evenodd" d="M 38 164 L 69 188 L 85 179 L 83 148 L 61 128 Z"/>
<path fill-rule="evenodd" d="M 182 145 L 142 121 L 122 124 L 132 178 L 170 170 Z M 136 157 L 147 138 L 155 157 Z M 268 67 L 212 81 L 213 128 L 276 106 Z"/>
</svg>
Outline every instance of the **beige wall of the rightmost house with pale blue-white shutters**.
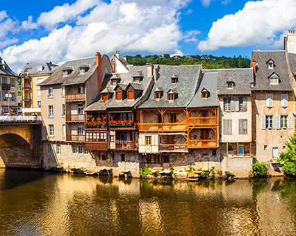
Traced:
<svg viewBox="0 0 296 236">
<path fill-rule="evenodd" d="M 281 94 L 288 94 L 288 107 L 281 108 Z M 273 106 L 266 107 L 265 95 L 272 94 Z M 272 160 L 272 148 L 278 148 L 279 153 L 284 150 L 285 142 L 288 141 L 290 135 L 295 131 L 294 111 L 294 94 L 293 92 L 253 92 L 254 102 L 254 119 L 256 122 L 256 158 L 260 162 L 268 162 Z M 263 115 L 293 115 L 292 129 L 262 129 L 261 117 Z"/>
</svg>

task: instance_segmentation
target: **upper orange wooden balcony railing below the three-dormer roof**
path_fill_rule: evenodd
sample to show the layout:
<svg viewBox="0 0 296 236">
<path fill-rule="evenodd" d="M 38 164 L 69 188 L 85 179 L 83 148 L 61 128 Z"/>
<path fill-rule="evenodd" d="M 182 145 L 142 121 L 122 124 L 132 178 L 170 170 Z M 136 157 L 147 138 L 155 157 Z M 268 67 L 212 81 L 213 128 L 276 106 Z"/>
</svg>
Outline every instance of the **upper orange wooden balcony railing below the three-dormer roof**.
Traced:
<svg viewBox="0 0 296 236">
<path fill-rule="evenodd" d="M 184 132 L 186 121 L 179 123 L 142 123 L 138 124 L 139 132 Z"/>
</svg>

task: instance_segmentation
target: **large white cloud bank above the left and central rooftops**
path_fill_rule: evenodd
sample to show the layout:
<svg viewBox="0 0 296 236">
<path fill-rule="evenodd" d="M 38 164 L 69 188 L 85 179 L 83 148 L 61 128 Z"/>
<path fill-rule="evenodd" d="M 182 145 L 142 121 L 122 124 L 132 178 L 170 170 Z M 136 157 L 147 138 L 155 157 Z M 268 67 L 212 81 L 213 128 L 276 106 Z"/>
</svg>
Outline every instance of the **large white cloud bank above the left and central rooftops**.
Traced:
<svg viewBox="0 0 296 236">
<path fill-rule="evenodd" d="M 42 13 L 36 22 L 28 17 L 22 28 L 39 26 L 50 28 L 69 20 L 76 26 L 65 25 L 55 28 L 49 35 L 32 39 L 19 46 L 3 50 L 3 58 L 13 68 L 20 68 L 26 62 L 60 62 L 94 56 L 101 53 L 175 53 L 179 42 L 195 40 L 198 31 L 183 35 L 179 26 L 181 13 L 191 0 L 113 0 L 106 3 L 99 0 L 77 0 L 72 5 L 64 4 Z M 81 6 L 87 3 L 88 7 Z M 97 2 L 96 6 L 93 4 Z M 71 10 L 69 10 L 71 9 Z M 85 10 L 88 14 L 81 15 Z M 47 22 L 47 20 L 49 22 Z"/>
</svg>

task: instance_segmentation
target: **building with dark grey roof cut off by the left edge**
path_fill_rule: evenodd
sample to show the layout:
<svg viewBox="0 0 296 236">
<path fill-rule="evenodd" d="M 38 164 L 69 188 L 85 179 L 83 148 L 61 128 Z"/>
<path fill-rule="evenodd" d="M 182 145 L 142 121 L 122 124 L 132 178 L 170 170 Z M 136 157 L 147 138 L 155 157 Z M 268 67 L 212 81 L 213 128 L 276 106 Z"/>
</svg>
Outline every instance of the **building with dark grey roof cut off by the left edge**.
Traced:
<svg viewBox="0 0 296 236">
<path fill-rule="evenodd" d="M 17 114 L 17 74 L 0 57 L 0 114 L 10 112 Z"/>
</svg>

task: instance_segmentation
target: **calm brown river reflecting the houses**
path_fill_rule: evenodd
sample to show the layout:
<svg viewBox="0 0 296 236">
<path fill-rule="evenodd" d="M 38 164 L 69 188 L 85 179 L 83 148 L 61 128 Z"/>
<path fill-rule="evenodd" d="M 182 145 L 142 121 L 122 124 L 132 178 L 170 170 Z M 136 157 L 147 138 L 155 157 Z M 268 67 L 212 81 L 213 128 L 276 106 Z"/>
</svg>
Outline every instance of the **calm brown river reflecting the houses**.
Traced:
<svg viewBox="0 0 296 236">
<path fill-rule="evenodd" d="M 296 235 L 296 180 L 118 180 L 0 169 L 0 235 Z"/>
</svg>

